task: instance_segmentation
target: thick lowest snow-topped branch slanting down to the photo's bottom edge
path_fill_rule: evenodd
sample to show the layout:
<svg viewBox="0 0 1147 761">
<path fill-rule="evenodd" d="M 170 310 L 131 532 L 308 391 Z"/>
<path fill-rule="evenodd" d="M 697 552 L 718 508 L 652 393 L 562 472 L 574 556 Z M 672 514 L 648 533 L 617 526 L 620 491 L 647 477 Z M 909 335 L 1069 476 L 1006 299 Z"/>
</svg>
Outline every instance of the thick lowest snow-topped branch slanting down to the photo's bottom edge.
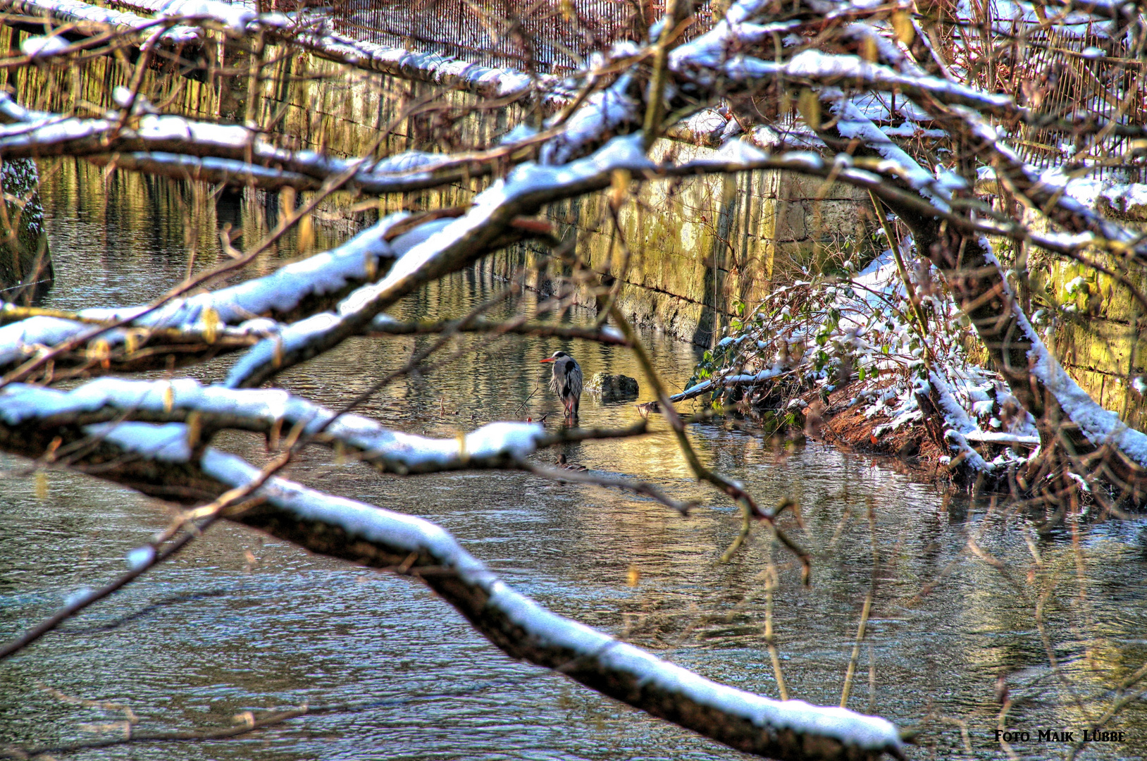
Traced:
<svg viewBox="0 0 1147 761">
<path fill-rule="evenodd" d="M 239 458 L 211 451 L 202 464 L 229 486 L 255 474 Z M 720 685 L 557 616 L 500 582 L 432 523 L 280 480 L 259 494 L 268 498 L 267 506 L 253 508 L 241 521 L 366 565 L 406 562 L 413 575 L 421 576 L 510 655 L 560 669 L 604 694 L 732 747 L 777 759 L 902 754 L 898 732 L 884 720 L 803 701 L 770 700 Z M 314 526 L 325 530 L 317 531 Z M 412 557 L 416 558 L 413 564 Z M 422 567 L 434 573 L 421 575 Z"/>
</svg>

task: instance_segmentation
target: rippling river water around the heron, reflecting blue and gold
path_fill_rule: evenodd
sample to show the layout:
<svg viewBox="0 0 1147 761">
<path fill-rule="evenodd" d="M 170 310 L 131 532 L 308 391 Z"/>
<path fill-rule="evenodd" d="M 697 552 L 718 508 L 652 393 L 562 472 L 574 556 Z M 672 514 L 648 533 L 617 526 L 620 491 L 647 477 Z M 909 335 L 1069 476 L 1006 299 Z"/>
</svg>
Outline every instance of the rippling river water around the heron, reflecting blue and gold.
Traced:
<svg viewBox="0 0 1147 761">
<path fill-rule="evenodd" d="M 61 309 L 151 298 L 188 269 L 218 262 L 219 225 L 242 227 L 253 239 L 274 215 L 273 204 L 122 173 L 104 178 L 70 162 L 46 164 L 44 176 L 58 278 L 46 305 Z M 346 234 L 320 226 L 317 246 Z M 256 271 L 295 258 L 297 243 L 287 239 Z M 194 261 L 187 253 L 193 244 Z M 504 287 L 471 270 L 411 296 L 393 313 L 460 316 Z M 528 294 L 515 309 L 535 305 Z M 574 311 L 568 319 L 592 315 Z M 693 348 L 651 332 L 645 337 L 664 378 L 684 383 L 696 359 Z M 338 404 L 400 367 L 428 340 L 349 341 L 288 373 L 283 385 Z M 587 376 L 609 371 L 640 378 L 624 350 L 580 341 L 471 337 L 455 348 L 463 349 L 458 359 L 389 387 L 362 412 L 439 436 L 492 419 L 547 412 L 554 419 L 560 404 L 538 360 L 557 348 L 577 357 Z M 229 362 L 190 372 L 218 380 Z M 645 388 L 641 398 L 650 398 Z M 625 426 L 635 414 L 631 403 L 583 399 L 583 425 Z M 1038 538 L 1005 505 L 969 504 L 888 463 L 816 443 L 778 452 L 733 424 L 692 426 L 705 461 L 762 503 L 797 499 L 803 527 L 793 517 L 782 526 L 813 556 L 812 584 L 803 588 L 793 557 L 771 548 L 764 531 L 731 564 L 717 562 L 739 514 L 690 481 L 663 424 L 655 428 L 643 440 L 564 451 L 593 469 L 701 500 L 688 518 L 627 494 L 518 473 L 400 479 L 320 453 L 295 466 L 291 477 L 436 521 L 552 609 L 766 696 L 778 696 L 765 640 L 770 559 L 779 580 L 775 640 L 794 698 L 840 702 L 871 592 L 849 707 L 918 727 L 912 758 L 1005 756 L 994 737 L 1001 676 L 1012 701 L 1004 725 L 1031 735 L 1011 751 L 1062 758 L 1068 746 L 1039 741 L 1038 731 L 1070 731 L 1078 739 L 1089 719 L 1108 707 L 1111 688 L 1147 660 L 1147 533 L 1139 521 Z M 251 438 L 219 443 L 262 457 Z M 167 520 L 162 505 L 132 491 L 64 472 L 29 474 L 26 466 L 0 461 L 5 638 L 48 615 L 67 595 L 120 573 L 125 553 Z M 969 538 L 1002 570 L 969 552 Z M 303 704 L 321 712 L 243 739 L 119 746 L 76 758 L 741 755 L 509 660 L 415 583 L 312 557 L 235 526 L 211 529 L 172 562 L 0 663 L 0 744 L 122 736 L 128 710 L 138 719 L 135 731 L 202 730 L 248 710 Z M 1090 744 L 1080 758 L 1144 756 L 1147 712 L 1140 701 L 1109 727 L 1124 731 L 1125 741 Z"/>
</svg>

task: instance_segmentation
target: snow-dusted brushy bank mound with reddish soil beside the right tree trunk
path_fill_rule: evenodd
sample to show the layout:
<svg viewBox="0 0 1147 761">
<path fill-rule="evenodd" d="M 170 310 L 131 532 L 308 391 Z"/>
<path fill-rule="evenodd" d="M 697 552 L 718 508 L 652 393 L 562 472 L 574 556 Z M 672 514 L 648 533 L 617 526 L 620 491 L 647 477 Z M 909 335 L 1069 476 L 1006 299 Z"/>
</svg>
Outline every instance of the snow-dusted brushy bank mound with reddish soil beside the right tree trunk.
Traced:
<svg viewBox="0 0 1147 761">
<path fill-rule="evenodd" d="M 1036 420 L 984 366 L 936 273 L 918 267 L 906 285 L 900 270 L 885 250 L 777 289 L 705 352 L 674 401 L 736 407 L 766 435 L 892 457 L 928 480 L 1005 484 L 1035 461 Z"/>
</svg>

